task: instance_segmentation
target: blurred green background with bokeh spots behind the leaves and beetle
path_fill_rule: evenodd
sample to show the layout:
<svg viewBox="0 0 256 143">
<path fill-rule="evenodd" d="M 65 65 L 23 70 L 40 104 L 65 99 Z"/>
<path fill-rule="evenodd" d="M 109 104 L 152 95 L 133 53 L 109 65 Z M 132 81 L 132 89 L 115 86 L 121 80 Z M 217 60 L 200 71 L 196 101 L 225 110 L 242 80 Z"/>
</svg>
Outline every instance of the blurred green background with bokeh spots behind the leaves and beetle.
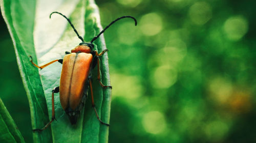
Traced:
<svg viewBox="0 0 256 143">
<path fill-rule="evenodd" d="M 256 1 L 96 0 L 113 86 L 109 142 L 256 142 Z M 28 100 L 1 17 L 7 109 L 32 142 Z"/>
</svg>

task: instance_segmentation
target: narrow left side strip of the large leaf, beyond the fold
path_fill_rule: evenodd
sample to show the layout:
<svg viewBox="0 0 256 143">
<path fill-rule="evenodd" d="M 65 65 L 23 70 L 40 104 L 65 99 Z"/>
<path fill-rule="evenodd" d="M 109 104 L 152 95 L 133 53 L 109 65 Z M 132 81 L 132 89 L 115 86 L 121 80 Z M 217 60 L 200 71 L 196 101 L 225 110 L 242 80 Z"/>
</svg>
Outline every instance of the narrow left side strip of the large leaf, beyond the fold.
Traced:
<svg viewBox="0 0 256 143">
<path fill-rule="evenodd" d="M 44 126 L 49 122 L 44 91 L 38 70 L 31 67 L 28 59 L 28 55 L 35 57 L 33 41 L 35 2 L 1 0 L 1 11 L 13 40 L 20 75 L 27 92 L 32 127 Z M 32 130 L 28 129 L 28 131 Z M 33 139 L 34 142 L 52 142 L 51 130 L 34 134 Z"/>
</svg>

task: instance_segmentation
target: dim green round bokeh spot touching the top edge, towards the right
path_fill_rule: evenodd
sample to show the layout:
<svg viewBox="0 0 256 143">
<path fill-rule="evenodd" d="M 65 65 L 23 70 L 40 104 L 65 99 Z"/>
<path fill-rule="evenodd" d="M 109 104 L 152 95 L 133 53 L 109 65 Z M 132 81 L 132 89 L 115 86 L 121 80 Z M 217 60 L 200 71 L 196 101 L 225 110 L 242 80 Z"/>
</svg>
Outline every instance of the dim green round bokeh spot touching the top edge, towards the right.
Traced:
<svg viewBox="0 0 256 143">
<path fill-rule="evenodd" d="M 197 25 L 203 25 L 211 19 L 211 7 L 206 2 L 197 2 L 189 8 L 189 17 Z"/>
</svg>

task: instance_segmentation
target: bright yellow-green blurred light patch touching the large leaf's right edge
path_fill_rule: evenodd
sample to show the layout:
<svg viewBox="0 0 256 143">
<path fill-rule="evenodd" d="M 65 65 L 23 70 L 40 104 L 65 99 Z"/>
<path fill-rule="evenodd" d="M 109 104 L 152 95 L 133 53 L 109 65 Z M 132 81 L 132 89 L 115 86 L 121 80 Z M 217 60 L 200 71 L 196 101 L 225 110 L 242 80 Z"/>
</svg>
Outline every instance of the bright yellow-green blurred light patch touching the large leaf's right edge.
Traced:
<svg viewBox="0 0 256 143">
<path fill-rule="evenodd" d="M 142 95 L 142 85 L 137 76 L 124 74 L 111 74 L 111 84 L 113 87 L 112 97 L 123 97 L 126 99 L 137 99 Z"/>
</svg>

